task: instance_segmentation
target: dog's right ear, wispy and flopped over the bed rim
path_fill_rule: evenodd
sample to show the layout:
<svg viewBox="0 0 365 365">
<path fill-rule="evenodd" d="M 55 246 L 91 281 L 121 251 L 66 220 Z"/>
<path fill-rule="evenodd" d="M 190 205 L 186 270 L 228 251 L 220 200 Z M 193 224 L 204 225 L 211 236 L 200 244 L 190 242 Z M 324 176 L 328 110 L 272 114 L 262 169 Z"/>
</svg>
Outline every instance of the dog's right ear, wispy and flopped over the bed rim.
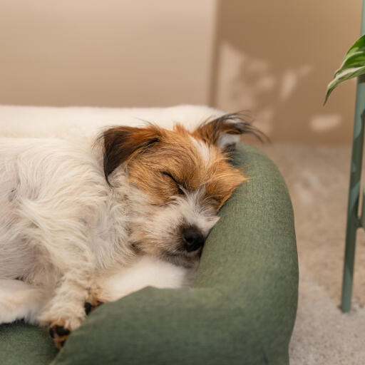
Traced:
<svg viewBox="0 0 365 365">
<path fill-rule="evenodd" d="M 240 141 L 240 135 L 250 133 L 262 140 L 260 130 L 252 126 L 252 118 L 245 112 L 225 114 L 202 123 L 194 132 L 196 138 L 217 145 L 224 150 Z"/>
</svg>

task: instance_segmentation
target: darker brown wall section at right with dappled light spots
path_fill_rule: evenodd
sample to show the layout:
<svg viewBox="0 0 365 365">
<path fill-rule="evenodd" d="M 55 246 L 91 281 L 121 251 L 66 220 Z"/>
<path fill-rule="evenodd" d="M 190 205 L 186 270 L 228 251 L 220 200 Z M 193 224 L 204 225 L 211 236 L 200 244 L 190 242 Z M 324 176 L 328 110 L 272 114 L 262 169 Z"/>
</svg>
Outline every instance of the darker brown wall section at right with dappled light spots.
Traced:
<svg viewBox="0 0 365 365">
<path fill-rule="evenodd" d="M 218 0 L 210 105 L 252 109 L 274 142 L 350 143 L 354 82 L 322 104 L 360 18 L 357 0 Z"/>
</svg>

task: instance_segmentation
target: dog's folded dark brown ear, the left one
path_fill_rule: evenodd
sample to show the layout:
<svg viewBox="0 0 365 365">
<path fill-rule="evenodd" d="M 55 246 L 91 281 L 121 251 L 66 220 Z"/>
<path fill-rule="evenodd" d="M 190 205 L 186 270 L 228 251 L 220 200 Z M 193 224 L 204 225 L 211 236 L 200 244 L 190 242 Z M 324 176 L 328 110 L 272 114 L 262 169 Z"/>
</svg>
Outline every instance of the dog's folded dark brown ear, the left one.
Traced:
<svg viewBox="0 0 365 365">
<path fill-rule="evenodd" d="M 114 127 L 101 134 L 103 140 L 103 165 L 106 180 L 118 166 L 128 163 L 138 153 L 145 153 L 160 142 L 161 130 L 155 125 L 146 128 Z"/>
</svg>

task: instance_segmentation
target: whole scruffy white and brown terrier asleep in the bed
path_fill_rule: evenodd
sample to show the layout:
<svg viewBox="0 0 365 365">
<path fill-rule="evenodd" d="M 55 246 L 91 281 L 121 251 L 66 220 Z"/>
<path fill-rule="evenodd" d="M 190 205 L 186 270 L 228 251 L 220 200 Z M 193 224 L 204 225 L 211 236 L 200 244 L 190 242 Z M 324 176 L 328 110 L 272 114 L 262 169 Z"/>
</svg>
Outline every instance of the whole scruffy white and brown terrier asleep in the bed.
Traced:
<svg viewBox="0 0 365 365">
<path fill-rule="evenodd" d="M 0 299 L 0 323 L 48 326 L 61 348 L 85 303 L 110 300 L 102 278 L 118 268 L 144 255 L 195 268 L 217 211 L 245 180 L 232 143 L 257 132 L 230 114 L 192 132 L 116 126 L 92 144 L 1 139 L 0 281 L 29 284 L 39 300 Z"/>
</svg>

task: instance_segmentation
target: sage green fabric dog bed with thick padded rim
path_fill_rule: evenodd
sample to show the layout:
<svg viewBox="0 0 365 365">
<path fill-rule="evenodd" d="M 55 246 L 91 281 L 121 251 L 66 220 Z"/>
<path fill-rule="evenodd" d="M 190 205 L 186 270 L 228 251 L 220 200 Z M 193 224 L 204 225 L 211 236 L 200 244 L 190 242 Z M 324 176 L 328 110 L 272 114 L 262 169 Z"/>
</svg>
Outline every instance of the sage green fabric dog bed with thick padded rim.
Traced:
<svg viewBox="0 0 365 365">
<path fill-rule="evenodd" d="M 192 289 L 148 287 L 104 304 L 56 349 L 46 329 L 0 326 L 2 365 L 289 364 L 298 264 L 275 165 L 237 145 L 243 183 L 220 212 Z"/>
</svg>

